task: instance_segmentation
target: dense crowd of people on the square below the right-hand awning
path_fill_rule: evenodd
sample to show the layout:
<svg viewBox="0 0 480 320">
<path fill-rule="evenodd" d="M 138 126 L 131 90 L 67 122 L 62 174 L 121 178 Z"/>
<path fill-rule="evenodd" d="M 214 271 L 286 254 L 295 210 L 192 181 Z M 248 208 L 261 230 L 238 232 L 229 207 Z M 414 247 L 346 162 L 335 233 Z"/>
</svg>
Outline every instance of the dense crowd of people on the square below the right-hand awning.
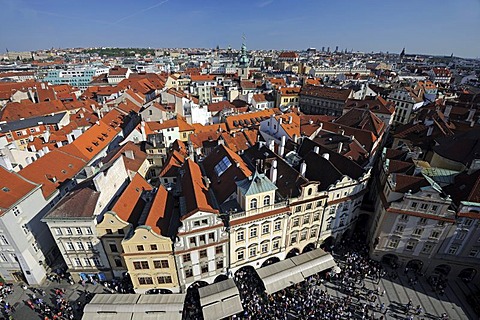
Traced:
<svg viewBox="0 0 480 320">
<path fill-rule="evenodd" d="M 359 238 L 341 241 L 335 247 L 341 272 L 327 271 L 305 281 L 267 295 L 253 268 L 235 274 L 244 312 L 236 319 L 423 319 L 424 310 L 413 302 L 385 305 L 385 289 L 380 279 L 397 275 L 381 263 L 371 260 L 368 247 Z M 368 285 L 367 280 L 368 279 Z M 412 277 L 412 281 L 417 281 Z M 333 291 L 342 294 L 334 294 Z M 389 317 L 390 318 L 390 317 Z M 442 314 L 437 319 L 448 319 Z"/>
</svg>

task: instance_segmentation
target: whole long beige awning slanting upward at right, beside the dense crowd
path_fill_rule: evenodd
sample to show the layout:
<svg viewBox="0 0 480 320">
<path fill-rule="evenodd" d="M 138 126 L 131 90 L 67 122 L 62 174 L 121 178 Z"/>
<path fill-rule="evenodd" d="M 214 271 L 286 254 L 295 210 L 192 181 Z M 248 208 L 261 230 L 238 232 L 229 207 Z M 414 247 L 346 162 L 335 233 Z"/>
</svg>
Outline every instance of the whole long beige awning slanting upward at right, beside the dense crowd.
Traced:
<svg viewBox="0 0 480 320">
<path fill-rule="evenodd" d="M 260 268 L 257 274 L 263 281 L 265 292 L 272 294 L 335 266 L 330 253 L 316 249 Z"/>
</svg>

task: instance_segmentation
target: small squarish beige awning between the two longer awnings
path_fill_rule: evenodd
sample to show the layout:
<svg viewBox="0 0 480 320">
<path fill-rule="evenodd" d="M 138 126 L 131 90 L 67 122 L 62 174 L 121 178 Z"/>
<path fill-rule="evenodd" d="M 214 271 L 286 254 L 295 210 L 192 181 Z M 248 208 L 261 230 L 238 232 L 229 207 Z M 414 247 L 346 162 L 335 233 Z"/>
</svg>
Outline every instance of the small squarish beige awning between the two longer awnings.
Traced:
<svg viewBox="0 0 480 320">
<path fill-rule="evenodd" d="M 229 278 L 198 289 L 205 320 L 223 319 L 243 311 L 238 288 Z"/>
</svg>

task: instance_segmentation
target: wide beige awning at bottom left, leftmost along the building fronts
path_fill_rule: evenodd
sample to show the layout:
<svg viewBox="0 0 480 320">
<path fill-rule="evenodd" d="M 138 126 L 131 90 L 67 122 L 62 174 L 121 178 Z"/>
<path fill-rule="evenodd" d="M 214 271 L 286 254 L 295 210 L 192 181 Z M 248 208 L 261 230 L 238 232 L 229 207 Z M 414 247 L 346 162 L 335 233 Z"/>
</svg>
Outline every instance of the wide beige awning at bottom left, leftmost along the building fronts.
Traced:
<svg viewBox="0 0 480 320">
<path fill-rule="evenodd" d="M 180 320 L 185 294 L 96 294 L 82 320 Z"/>
</svg>

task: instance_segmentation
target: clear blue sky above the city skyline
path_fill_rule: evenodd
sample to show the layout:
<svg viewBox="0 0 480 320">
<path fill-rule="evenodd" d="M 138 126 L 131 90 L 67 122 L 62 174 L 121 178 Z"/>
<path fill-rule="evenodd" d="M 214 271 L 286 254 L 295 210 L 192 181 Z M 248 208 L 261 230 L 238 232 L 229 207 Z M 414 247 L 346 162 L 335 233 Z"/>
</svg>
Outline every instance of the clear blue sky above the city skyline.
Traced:
<svg viewBox="0 0 480 320">
<path fill-rule="evenodd" d="M 480 0 L 0 0 L 0 52 L 348 48 L 480 57 Z"/>
</svg>

